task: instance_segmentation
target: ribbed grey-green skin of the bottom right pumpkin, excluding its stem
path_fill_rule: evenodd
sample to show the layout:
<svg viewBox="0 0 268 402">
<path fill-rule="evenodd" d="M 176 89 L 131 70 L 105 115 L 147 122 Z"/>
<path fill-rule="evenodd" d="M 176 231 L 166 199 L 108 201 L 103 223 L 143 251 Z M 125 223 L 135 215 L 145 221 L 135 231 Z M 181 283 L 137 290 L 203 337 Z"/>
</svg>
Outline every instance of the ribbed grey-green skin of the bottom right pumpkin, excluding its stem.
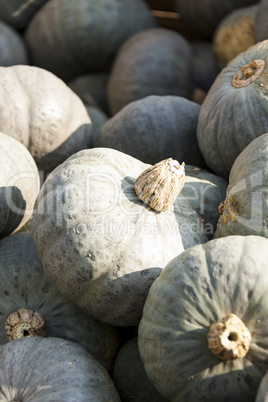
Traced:
<svg viewBox="0 0 268 402">
<path fill-rule="evenodd" d="M 152 284 L 138 331 L 155 387 L 171 402 L 254 402 L 268 368 L 268 240 L 229 236 L 185 250 Z M 210 325 L 236 314 L 251 332 L 244 358 L 208 348 Z"/>
</svg>

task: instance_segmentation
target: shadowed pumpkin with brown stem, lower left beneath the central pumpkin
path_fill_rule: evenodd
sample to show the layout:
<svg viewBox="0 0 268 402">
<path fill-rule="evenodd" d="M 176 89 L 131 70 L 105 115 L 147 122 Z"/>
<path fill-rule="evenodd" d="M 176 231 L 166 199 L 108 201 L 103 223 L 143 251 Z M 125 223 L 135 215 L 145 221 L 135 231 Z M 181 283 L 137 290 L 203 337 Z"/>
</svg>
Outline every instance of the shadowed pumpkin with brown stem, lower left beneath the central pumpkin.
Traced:
<svg viewBox="0 0 268 402">
<path fill-rule="evenodd" d="M 120 340 L 116 328 L 86 314 L 49 282 L 31 234 L 16 233 L 0 241 L 0 345 L 31 336 L 78 343 L 107 370 Z"/>
</svg>

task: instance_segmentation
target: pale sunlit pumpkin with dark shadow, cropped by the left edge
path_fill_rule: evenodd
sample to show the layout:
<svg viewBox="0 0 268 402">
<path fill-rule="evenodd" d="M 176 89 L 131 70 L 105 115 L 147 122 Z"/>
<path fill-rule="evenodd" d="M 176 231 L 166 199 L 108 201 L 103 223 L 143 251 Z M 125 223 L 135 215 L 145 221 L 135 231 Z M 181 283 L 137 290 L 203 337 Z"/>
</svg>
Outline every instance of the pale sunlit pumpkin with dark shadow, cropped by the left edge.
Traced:
<svg viewBox="0 0 268 402">
<path fill-rule="evenodd" d="M 0 238 L 20 230 L 31 218 L 40 190 L 36 163 L 27 148 L 0 132 Z"/>
</svg>

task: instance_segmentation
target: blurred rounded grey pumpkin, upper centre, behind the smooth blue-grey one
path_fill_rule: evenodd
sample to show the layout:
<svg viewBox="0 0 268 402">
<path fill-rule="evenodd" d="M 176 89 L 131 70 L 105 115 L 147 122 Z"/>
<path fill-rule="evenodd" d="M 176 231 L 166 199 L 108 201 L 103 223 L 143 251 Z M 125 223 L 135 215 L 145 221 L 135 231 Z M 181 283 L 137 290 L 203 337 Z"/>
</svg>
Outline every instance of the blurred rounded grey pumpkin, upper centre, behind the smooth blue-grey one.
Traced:
<svg viewBox="0 0 268 402">
<path fill-rule="evenodd" d="M 190 43 L 166 28 L 146 29 L 125 41 L 114 60 L 107 88 L 111 115 L 149 95 L 190 99 L 192 92 Z"/>
</svg>

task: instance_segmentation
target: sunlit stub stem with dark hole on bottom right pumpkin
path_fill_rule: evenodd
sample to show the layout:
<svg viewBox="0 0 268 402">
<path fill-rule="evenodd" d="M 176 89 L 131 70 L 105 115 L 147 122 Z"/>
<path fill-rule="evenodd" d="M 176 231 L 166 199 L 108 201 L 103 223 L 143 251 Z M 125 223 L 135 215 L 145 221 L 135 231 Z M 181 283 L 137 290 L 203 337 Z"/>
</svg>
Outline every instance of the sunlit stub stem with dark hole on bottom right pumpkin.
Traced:
<svg viewBox="0 0 268 402">
<path fill-rule="evenodd" d="M 215 356 L 222 360 L 234 360 L 246 356 L 251 335 L 237 315 L 227 314 L 211 325 L 207 339 L 208 347 Z"/>
</svg>

